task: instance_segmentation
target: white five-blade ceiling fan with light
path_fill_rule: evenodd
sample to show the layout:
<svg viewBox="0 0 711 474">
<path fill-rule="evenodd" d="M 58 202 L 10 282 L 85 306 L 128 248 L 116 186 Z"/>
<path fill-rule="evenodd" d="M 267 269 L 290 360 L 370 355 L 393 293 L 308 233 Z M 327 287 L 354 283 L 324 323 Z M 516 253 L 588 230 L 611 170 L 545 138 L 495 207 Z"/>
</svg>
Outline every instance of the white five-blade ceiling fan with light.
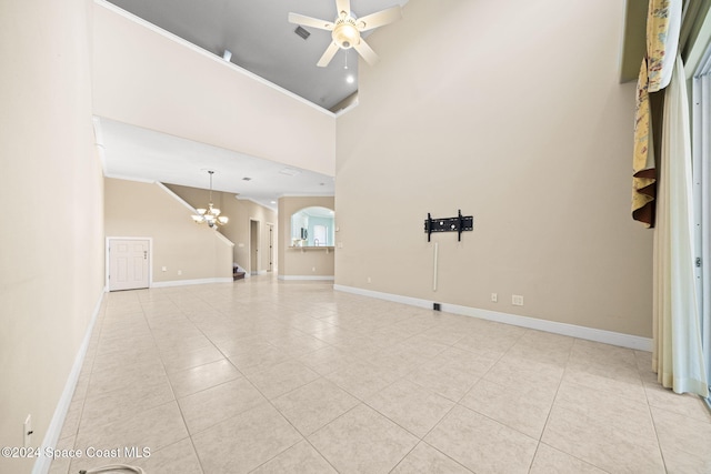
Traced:
<svg viewBox="0 0 711 474">
<path fill-rule="evenodd" d="M 375 54 L 375 51 L 360 37 L 360 33 L 399 20 L 402 18 L 402 7 L 398 4 L 375 13 L 367 14 L 363 18 L 358 18 L 353 14 L 350 0 L 336 0 L 336 8 L 338 9 L 338 17 L 336 17 L 333 21 L 319 20 L 299 13 L 289 13 L 289 22 L 331 31 L 333 41 L 317 63 L 317 65 L 321 68 L 326 68 L 329 62 L 331 62 L 331 59 L 333 59 L 339 49 L 350 48 L 358 51 L 370 65 L 375 64 L 379 59 L 378 54 Z"/>
</svg>

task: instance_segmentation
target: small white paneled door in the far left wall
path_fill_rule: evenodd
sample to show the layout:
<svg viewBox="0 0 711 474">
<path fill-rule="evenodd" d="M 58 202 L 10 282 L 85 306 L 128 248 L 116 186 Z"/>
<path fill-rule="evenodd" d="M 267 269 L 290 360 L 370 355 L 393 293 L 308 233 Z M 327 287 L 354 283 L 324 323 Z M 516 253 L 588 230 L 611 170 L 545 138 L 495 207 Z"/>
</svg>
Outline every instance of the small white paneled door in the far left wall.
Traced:
<svg viewBox="0 0 711 474">
<path fill-rule="evenodd" d="M 109 291 L 148 288 L 148 240 L 109 239 Z"/>
</svg>

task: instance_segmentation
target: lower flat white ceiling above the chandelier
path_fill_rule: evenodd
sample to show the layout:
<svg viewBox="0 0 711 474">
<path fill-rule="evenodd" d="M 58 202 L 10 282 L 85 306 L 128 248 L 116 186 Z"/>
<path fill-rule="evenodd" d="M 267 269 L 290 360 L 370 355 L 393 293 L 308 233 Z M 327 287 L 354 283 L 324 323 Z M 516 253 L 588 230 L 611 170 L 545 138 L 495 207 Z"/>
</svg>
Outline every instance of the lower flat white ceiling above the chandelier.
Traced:
<svg viewBox="0 0 711 474">
<path fill-rule="evenodd" d="M 277 210 L 282 195 L 333 195 L 333 178 L 230 150 L 94 118 L 104 174 L 212 189 Z M 244 178 L 251 178 L 246 181 Z"/>
</svg>

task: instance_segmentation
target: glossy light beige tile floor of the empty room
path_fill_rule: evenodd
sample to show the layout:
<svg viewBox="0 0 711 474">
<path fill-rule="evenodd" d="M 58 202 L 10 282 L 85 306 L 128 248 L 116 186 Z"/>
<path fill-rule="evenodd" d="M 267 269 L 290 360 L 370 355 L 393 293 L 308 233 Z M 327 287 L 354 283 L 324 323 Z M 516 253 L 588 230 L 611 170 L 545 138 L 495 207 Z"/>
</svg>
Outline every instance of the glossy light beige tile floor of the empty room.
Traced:
<svg viewBox="0 0 711 474">
<path fill-rule="evenodd" d="M 127 446 L 51 472 L 711 473 L 711 415 L 645 352 L 259 276 L 106 296 L 58 447 Z"/>
</svg>

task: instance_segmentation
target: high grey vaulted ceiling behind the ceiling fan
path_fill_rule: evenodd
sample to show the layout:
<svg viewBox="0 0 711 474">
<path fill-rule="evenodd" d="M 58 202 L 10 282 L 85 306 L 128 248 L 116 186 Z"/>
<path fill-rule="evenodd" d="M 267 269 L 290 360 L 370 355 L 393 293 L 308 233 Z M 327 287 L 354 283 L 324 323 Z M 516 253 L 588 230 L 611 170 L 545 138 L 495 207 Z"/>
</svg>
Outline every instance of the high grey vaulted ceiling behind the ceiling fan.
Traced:
<svg viewBox="0 0 711 474">
<path fill-rule="evenodd" d="M 358 90 L 354 50 L 339 51 L 328 67 L 319 68 L 317 62 L 331 43 L 331 32 L 307 27 L 311 34 L 304 40 L 288 21 L 289 12 L 333 21 L 336 0 L 109 1 L 219 57 L 229 50 L 231 62 L 324 109 L 337 110 Z M 352 0 L 351 10 L 363 17 L 405 2 Z M 348 81 L 349 75 L 353 82 Z"/>
</svg>

